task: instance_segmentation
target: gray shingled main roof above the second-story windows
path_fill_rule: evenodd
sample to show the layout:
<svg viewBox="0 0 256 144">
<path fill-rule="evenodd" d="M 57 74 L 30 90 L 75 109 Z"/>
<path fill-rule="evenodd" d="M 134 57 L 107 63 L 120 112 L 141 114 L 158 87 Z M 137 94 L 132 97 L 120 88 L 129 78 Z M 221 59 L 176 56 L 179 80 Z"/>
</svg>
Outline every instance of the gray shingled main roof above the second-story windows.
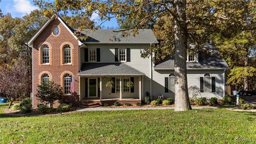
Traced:
<svg viewBox="0 0 256 144">
<path fill-rule="evenodd" d="M 158 43 L 151 29 L 139 29 L 135 37 L 132 34 L 123 37 L 122 31 L 115 32 L 117 30 L 120 29 L 85 29 L 80 32 L 88 36 L 84 43 Z"/>
</svg>

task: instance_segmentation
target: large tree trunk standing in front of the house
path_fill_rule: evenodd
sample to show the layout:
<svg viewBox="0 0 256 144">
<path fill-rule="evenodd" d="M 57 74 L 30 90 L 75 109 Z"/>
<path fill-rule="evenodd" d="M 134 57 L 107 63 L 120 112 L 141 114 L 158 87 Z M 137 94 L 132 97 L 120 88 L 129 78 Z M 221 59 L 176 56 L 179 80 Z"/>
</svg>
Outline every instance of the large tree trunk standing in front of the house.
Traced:
<svg viewBox="0 0 256 144">
<path fill-rule="evenodd" d="M 191 109 L 188 97 L 187 82 L 187 22 L 186 22 L 186 0 L 174 1 L 174 33 L 175 33 L 175 111 Z"/>
</svg>

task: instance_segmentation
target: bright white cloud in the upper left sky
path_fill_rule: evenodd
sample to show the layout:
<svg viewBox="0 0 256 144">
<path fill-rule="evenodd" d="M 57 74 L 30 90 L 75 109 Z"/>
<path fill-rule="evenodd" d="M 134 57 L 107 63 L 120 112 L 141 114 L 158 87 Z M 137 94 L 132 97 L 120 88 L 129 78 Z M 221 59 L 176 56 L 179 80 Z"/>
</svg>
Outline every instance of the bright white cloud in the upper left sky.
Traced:
<svg viewBox="0 0 256 144">
<path fill-rule="evenodd" d="M 30 4 L 29 0 L 14 0 L 13 7 L 15 11 L 22 14 L 29 14 L 31 11 L 38 9 L 38 7 Z"/>
</svg>

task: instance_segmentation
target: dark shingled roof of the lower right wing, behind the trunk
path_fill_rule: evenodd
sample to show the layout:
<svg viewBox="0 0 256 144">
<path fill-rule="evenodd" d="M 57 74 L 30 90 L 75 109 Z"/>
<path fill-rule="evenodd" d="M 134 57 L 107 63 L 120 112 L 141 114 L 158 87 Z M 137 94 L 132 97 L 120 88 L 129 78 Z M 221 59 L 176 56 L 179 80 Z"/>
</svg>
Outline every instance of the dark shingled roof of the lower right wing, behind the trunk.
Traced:
<svg viewBox="0 0 256 144">
<path fill-rule="evenodd" d="M 200 58 L 201 57 L 201 58 Z M 174 69 L 174 59 L 169 56 L 154 67 L 157 69 Z M 207 55 L 198 55 L 198 62 L 187 62 L 187 69 L 230 69 L 226 61 L 222 58 Z"/>
</svg>

